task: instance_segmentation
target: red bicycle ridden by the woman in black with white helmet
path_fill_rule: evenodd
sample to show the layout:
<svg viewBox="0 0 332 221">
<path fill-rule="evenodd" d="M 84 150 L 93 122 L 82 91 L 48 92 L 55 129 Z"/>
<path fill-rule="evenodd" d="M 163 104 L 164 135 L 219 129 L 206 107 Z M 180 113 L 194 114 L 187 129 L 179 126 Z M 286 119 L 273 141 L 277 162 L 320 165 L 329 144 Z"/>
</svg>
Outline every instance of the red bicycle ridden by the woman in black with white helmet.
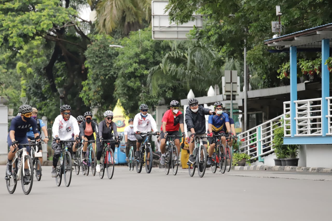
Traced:
<svg viewBox="0 0 332 221">
<path fill-rule="evenodd" d="M 105 168 L 107 171 L 108 179 L 112 179 L 114 174 L 114 152 L 111 148 L 111 142 L 118 142 L 116 140 L 103 140 L 101 145 L 104 143 L 102 156 L 100 157 L 100 172 L 99 178 L 103 179 Z"/>
</svg>

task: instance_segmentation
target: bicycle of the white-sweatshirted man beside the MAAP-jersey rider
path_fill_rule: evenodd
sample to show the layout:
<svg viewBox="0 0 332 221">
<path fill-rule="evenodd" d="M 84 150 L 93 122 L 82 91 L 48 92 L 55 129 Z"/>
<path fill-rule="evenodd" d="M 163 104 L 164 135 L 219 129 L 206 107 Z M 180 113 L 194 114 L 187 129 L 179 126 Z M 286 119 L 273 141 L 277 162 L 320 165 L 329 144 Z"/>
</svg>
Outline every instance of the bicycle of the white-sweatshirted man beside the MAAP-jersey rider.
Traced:
<svg viewBox="0 0 332 221">
<path fill-rule="evenodd" d="M 60 157 L 56 165 L 56 178 L 55 183 L 57 186 L 61 185 L 62 174 L 64 184 L 68 187 L 71 182 L 72 162 L 71 154 L 68 151 L 68 143 L 76 142 L 75 140 L 60 140 L 57 145 L 61 145 Z"/>
</svg>

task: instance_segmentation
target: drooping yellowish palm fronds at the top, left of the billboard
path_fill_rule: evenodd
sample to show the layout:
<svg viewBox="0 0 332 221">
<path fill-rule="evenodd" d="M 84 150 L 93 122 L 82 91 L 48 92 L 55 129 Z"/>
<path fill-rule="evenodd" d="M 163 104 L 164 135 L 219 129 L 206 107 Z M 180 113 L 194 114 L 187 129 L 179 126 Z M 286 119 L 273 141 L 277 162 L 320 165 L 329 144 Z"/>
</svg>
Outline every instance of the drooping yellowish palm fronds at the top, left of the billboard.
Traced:
<svg viewBox="0 0 332 221">
<path fill-rule="evenodd" d="M 115 29 L 124 35 L 150 24 L 151 1 L 149 0 L 88 0 L 91 10 L 97 12 L 97 28 L 106 34 Z"/>
</svg>

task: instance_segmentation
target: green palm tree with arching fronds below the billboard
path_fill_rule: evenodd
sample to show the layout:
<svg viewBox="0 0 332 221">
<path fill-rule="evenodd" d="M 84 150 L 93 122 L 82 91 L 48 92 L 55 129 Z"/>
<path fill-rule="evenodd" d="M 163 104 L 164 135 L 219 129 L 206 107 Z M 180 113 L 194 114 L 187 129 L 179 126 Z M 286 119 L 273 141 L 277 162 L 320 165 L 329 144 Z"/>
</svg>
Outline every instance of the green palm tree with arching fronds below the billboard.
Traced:
<svg viewBox="0 0 332 221">
<path fill-rule="evenodd" d="M 152 94 L 158 93 L 159 85 L 170 82 L 176 88 L 187 91 L 192 88 L 199 94 L 205 94 L 210 85 L 221 84 L 222 60 L 217 52 L 197 42 L 169 43 L 171 51 L 158 66 L 149 70 L 148 84 Z"/>
</svg>

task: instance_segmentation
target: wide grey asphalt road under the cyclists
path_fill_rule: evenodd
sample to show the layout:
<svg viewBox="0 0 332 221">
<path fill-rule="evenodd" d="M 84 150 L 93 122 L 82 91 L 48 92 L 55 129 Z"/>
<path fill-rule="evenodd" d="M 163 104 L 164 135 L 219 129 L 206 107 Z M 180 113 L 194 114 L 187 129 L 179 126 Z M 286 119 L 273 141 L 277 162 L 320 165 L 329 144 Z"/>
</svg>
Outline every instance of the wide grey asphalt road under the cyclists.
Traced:
<svg viewBox="0 0 332 221">
<path fill-rule="evenodd" d="M 5 166 L 0 171 L 5 175 Z M 106 172 L 101 180 L 73 171 L 70 186 L 62 179 L 58 187 L 50 171 L 43 167 L 29 195 L 21 183 L 9 194 L 1 179 L 0 220 L 331 220 L 327 173 L 207 170 L 199 178 L 197 171 L 189 177 L 188 169 L 173 176 L 118 166 L 111 180 Z"/>
</svg>

